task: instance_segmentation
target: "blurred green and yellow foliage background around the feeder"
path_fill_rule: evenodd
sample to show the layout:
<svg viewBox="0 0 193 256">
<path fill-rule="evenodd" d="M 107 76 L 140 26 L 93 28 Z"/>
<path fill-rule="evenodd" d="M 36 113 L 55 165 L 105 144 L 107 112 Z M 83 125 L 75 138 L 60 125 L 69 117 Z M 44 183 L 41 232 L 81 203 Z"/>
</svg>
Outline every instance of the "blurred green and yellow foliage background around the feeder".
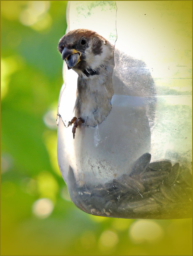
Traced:
<svg viewBox="0 0 193 256">
<path fill-rule="evenodd" d="M 191 220 L 98 217 L 57 164 L 66 1 L 1 1 L 1 254 L 191 255 Z"/>
</svg>

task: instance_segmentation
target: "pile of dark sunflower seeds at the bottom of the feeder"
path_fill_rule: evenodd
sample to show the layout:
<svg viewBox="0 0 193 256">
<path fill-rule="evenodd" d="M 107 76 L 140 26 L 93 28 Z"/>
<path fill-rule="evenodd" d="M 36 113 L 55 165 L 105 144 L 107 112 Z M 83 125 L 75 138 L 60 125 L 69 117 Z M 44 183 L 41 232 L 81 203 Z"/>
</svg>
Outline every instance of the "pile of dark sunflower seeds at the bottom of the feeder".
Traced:
<svg viewBox="0 0 193 256">
<path fill-rule="evenodd" d="M 192 175 L 186 167 L 163 160 L 151 162 L 143 154 L 124 174 L 104 185 L 77 187 L 73 170 L 68 186 L 73 202 L 83 211 L 101 216 L 142 219 L 191 217 Z"/>
</svg>

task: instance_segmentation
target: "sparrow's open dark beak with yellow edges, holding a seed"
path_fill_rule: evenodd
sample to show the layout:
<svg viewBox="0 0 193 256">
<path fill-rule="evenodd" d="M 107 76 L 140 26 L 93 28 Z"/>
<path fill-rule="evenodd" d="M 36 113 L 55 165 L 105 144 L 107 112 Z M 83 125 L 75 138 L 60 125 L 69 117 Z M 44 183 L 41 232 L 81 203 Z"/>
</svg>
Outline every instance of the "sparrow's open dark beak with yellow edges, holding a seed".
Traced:
<svg viewBox="0 0 193 256">
<path fill-rule="evenodd" d="M 64 47 L 62 51 L 62 60 L 65 60 L 66 64 L 68 65 L 68 69 L 74 67 L 79 61 L 81 56 L 81 52 L 75 49 L 68 49 Z"/>
</svg>

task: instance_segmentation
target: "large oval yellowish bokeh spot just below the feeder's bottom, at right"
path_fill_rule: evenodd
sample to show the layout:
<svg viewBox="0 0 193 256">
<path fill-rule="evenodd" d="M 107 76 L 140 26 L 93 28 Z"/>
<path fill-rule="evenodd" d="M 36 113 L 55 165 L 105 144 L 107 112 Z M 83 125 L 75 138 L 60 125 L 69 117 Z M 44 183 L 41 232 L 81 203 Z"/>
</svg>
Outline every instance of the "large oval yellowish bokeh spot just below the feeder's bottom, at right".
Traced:
<svg viewBox="0 0 193 256">
<path fill-rule="evenodd" d="M 161 240 L 163 237 L 163 230 L 155 221 L 139 220 L 131 225 L 129 236 L 134 243 L 154 243 Z"/>
</svg>

